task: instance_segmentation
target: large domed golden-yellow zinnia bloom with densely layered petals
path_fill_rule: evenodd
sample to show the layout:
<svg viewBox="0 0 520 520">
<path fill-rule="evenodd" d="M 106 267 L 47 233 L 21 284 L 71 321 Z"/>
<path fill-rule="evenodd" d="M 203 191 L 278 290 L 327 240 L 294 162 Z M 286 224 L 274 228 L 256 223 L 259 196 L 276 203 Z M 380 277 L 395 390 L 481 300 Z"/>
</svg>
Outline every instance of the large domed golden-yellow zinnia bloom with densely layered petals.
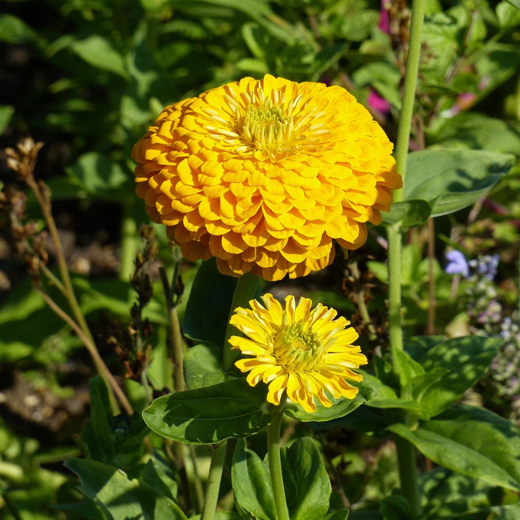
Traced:
<svg viewBox="0 0 520 520">
<path fill-rule="evenodd" d="M 134 147 L 137 194 L 189 259 L 266 280 L 356 249 L 401 186 L 392 144 L 339 86 L 266 75 L 168 106 Z"/>
</svg>

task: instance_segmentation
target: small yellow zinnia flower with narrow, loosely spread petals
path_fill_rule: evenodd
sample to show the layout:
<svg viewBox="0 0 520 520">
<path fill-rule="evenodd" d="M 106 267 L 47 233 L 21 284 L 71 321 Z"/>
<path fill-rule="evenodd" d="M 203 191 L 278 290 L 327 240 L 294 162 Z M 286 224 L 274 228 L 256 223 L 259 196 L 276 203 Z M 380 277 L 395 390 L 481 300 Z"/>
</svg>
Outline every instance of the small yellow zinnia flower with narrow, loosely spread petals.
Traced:
<svg viewBox="0 0 520 520">
<path fill-rule="evenodd" d="M 367 363 L 358 346 L 356 331 L 345 327 L 349 322 L 334 309 L 294 296 L 285 298 L 285 308 L 271 294 L 256 300 L 250 309 L 235 309 L 230 323 L 248 338 L 231 336 L 229 343 L 242 354 L 254 356 L 235 364 L 242 372 L 249 372 L 247 381 L 255 386 L 259 381 L 269 384 L 267 400 L 280 404 L 283 392 L 306 412 L 316 411 L 315 397 L 326 407 L 332 405 L 325 391 L 334 398 L 353 399 L 358 389 L 346 380 L 361 381 L 352 371 Z"/>
</svg>

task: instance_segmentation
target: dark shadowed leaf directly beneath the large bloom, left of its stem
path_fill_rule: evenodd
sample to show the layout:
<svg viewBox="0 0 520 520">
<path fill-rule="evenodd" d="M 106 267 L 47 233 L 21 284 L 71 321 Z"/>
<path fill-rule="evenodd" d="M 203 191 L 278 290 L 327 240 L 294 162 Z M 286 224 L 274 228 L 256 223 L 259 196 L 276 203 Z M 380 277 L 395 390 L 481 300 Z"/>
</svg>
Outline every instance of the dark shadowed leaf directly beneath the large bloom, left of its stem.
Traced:
<svg viewBox="0 0 520 520">
<path fill-rule="evenodd" d="M 222 348 L 236 286 L 237 278 L 220 274 L 215 258 L 202 262 L 186 305 L 184 333 Z"/>
</svg>

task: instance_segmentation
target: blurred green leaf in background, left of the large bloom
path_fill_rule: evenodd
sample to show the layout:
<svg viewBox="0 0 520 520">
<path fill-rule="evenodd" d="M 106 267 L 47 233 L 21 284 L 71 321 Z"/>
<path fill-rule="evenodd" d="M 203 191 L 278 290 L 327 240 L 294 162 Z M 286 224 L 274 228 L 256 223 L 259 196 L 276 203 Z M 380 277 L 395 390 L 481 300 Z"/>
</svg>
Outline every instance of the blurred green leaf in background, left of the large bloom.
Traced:
<svg viewBox="0 0 520 520">
<path fill-rule="evenodd" d="M 81 155 L 68 168 L 68 173 L 79 180 L 85 190 L 95 194 L 117 188 L 129 179 L 118 163 L 99 152 L 87 152 Z"/>
</svg>

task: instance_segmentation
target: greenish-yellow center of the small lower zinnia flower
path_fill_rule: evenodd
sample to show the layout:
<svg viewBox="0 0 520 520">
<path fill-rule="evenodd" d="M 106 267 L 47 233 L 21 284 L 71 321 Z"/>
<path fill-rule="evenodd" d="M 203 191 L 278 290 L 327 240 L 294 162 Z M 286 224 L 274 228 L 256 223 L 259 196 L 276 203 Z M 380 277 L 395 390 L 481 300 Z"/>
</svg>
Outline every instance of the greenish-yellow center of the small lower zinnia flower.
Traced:
<svg viewBox="0 0 520 520">
<path fill-rule="evenodd" d="M 274 354 L 287 372 L 310 370 L 320 360 L 323 347 L 312 328 L 302 320 L 280 326 L 272 335 Z"/>
</svg>

